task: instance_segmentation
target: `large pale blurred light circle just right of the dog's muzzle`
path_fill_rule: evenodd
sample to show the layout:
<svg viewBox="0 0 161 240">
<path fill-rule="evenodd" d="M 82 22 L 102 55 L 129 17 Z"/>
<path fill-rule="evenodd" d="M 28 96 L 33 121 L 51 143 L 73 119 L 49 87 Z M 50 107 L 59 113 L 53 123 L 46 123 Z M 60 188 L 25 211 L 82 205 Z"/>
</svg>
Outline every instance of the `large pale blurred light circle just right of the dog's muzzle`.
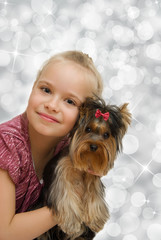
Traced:
<svg viewBox="0 0 161 240">
<path fill-rule="evenodd" d="M 139 149 L 139 141 L 134 135 L 126 134 L 123 138 L 123 152 L 133 154 Z"/>
</svg>

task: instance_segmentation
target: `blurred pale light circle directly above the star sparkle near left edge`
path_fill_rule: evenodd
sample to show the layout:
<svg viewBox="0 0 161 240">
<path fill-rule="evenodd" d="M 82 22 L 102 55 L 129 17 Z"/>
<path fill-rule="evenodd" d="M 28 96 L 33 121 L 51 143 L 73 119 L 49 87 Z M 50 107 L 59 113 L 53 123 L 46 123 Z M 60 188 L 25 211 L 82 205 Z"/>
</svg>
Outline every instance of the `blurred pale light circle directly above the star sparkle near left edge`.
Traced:
<svg viewBox="0 0 161 240">
<path fill-rule="evenodd" d="M 17 50 L 25 50 L 30 46 L 30 35 L 27 32 L 17 32 L 13 37 L 13 46 Z"/>
</svg>

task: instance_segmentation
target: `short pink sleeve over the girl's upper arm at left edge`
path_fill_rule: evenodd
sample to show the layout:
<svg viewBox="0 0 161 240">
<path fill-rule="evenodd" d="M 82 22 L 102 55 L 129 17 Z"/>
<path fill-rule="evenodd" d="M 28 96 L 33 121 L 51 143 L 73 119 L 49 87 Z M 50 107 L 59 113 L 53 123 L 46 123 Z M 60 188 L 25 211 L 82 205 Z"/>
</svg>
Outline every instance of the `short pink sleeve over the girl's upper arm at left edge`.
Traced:
<svg viewBox="0 0 161 240">
<path fill-rule="evenodd" d="M 19 181 L 20 160 L 16 151 L 15 141 L 12 135 L 0 135 L 0 168 L 8 171 L 12 181 Z"/>
</svg>

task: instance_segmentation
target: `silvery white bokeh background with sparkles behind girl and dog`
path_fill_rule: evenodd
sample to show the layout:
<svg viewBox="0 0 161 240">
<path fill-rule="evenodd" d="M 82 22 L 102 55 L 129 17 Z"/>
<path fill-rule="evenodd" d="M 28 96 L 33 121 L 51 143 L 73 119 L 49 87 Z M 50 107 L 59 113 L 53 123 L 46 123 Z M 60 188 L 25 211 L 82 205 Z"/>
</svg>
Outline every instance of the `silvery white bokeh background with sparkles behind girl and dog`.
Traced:
<svg viewBox="0 0 161 240">
<path fill-rule="evenodd" d="M 95 240 L 161 239 L 161 1 L 0 0 L 0 122 L 22 113 L 41 64 L 89 54 L 108 103 L 133 115 L 103 177 L 110 219 Z"/>
</svg>

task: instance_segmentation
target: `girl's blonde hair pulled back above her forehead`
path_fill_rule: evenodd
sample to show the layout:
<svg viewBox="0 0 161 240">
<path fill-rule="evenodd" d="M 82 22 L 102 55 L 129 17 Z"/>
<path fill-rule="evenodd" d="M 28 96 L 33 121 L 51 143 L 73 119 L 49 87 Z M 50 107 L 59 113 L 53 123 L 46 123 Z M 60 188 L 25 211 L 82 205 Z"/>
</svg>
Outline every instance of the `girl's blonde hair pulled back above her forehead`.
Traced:
<svg viewBox="0 0 161 240">
<path fill-rule="evenodd" d="M 51 58 L 49 58 L 43 64 L 42 68 L 39 70 L 35 82 L 37 82 L 37 80 L 39 79 L 43 70 L 45 70 L 46 67 L 50 63 L 56 63 L 56 62 L 66 61 L 66 60 L 77 63 L 78 65 L 82 66 L 89 73 L 91 73 L 93 75 L 93 80 L 95 80 L 96 84 L 97 84 L 97 88 L 96 88 L 96 91 L 94 92 L 94 94 L 96 94 L 98 96 L 101 96 L 102 95 L 102 90 L 103 90 L 103 82 L 102 82 L 101 75 L 97 71 L 97 69 L 96 69 L 96 67 L 93 63 L 92 58 L 89 57 L 88 54 L 85 54 L 85 53 L 80 52 L 80 51 L 66 51 L 66 52 L 58 53 L 58 54 L 52 56 Z"/>
</svg>

